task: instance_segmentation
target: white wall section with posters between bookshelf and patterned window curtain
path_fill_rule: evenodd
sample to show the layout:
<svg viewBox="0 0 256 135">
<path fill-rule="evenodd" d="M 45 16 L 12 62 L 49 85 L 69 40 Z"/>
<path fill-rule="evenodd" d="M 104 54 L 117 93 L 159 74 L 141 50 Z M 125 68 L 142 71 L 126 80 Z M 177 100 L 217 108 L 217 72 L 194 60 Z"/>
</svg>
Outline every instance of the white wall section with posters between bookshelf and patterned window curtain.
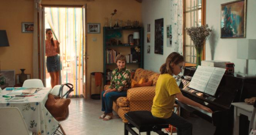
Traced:
<svg viewBox="0 0 256 135">
<path fill-rule="evenodd" d="M 155 54 L 155 20 L 164 18 L 164 55 Z M 159 72 L 160 66 L 165 63 L 167 56 L 173 52 L 167 47 L 167 25 L 171 24 L 170 0 L 146 0 L 142 1 L 142 24 L 144 27 L 144 68 Z M 151 24 L 151 43 L 147 43 L 147 24 Z M 151 53 L 147 53 L 151 46 Z"/>
</svg>

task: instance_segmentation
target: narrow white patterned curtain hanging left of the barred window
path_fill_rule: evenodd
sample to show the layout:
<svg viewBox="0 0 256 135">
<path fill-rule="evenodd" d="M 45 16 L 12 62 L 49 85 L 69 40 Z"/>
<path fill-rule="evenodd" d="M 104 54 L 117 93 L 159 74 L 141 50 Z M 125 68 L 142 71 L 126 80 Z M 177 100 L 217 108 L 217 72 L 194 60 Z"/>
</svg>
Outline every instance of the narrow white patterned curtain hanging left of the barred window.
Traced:
<svg viewBox="0 0 256 135">
<path fill-rule="evenodd" d="M 183 55 L 183 1 L 171 0 L 172 44 Z"/>
</svg>

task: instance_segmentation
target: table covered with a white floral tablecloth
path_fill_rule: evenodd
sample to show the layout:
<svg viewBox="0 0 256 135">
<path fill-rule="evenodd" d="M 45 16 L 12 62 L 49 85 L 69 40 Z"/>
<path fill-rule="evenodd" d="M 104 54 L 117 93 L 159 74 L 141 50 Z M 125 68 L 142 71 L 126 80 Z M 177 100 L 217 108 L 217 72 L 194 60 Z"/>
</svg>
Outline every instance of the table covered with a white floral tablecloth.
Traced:
<svg viewBox="0 0 256 135">
<path fill-rule="evenodd" d="M 18 107 L 28 130 L 42 135 L 52 134 L 59 126 L 59 122 L 44 107 L 50 90 L 50 88 L 41 88 L 34 96 L 25 97 L 26 100 L 23 102 L 8 102 L 9 98 L 4 98 L 2 95 L 7 95 L 11 91 L 4 89 L 0 92 L 0 107 Z"/>
</svg>

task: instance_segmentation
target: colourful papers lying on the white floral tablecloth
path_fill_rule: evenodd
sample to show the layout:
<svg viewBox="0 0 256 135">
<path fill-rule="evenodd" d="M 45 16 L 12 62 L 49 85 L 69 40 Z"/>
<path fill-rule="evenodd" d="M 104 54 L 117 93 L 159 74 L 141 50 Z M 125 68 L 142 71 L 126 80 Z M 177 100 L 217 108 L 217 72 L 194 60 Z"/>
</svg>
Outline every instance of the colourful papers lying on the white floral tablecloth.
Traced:
<svg viewBox="0 0 256 135">
<path fill-rule="evenodd" d="M 12 92 L 7 94 L 8 96 L 15 96 L 15 95 L 33 95 L 34 93 L 40 91 L 41 88 L 15 88 Z"/>
</svg>

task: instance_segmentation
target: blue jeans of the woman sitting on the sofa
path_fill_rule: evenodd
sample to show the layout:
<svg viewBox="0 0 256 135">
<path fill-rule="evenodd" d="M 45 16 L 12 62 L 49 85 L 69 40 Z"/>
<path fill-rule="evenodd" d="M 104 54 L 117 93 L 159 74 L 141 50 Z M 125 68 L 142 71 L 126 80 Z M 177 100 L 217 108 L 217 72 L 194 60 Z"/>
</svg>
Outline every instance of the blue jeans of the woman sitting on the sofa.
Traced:
<svg viewBox="0 0 256 135">
<path fill-rule="evenodd" d="M 101 93 L 101 99 L 102 99 L 102 104 L 101 104 L 101 111 L 104 111 L 105 114 L 108 114 L 113 111 L 113 101 L 116 100 L 119 97 L 126 97 L 127 92 L 126 91 L 114 91 L 114 92 L 108 92 L 105 97 L 103 97 L 103 94 L 105 91 Z"/>
</svg>

